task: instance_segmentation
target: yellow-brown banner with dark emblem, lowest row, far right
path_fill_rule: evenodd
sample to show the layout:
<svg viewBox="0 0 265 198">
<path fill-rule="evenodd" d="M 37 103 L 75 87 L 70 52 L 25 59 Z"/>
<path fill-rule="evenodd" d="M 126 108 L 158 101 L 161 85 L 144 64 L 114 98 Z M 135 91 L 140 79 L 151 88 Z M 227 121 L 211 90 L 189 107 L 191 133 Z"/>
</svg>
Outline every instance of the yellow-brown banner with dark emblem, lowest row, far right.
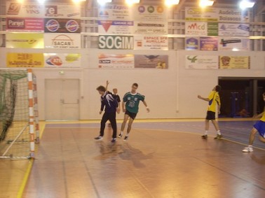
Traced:
<svg viewBox="0 0 265 198">
<path fill-rule="evenodd" d="M 219 56 L 219 69 L 250 69 L 250 57 Z"/>
</svg>

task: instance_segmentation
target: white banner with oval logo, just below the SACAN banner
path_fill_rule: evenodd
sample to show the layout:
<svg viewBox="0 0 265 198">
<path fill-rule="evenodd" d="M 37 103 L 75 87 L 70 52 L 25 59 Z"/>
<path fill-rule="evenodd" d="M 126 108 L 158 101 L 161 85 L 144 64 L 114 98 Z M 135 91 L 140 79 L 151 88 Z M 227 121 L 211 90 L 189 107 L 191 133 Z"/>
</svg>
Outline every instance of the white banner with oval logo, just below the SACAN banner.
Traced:
<svg viewBox="0 0 265 198">
<path fill-rule="evenodd" d="M 45 67 L 81 67 L 81 54 L 44 53 Z"/>
</svg>

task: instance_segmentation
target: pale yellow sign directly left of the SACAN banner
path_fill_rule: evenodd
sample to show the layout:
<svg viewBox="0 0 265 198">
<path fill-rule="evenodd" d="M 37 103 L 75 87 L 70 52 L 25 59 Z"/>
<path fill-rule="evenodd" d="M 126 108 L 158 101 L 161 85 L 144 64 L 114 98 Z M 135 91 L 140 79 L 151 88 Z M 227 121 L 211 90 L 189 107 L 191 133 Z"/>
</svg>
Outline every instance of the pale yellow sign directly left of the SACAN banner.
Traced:
<svg viewBox="0 0 265 198">
<path fill-rule="evenodd" d="M 41 33 L 7 33 L 6 48 L 44 48 Z"/>
</svg>

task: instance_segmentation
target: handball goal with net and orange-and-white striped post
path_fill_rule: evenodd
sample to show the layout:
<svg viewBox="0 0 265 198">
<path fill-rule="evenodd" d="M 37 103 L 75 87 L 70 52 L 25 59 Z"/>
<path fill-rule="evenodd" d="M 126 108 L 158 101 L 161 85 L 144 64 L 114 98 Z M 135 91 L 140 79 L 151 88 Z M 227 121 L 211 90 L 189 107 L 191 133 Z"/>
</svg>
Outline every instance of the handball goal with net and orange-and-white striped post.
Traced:
<svg viewBox="0 0 265 198">
<path fill-rule="evenodd" d="M 32 69 L 0 69 L 0 158 L 34 158 L 36 101 Z"/>
</svg>

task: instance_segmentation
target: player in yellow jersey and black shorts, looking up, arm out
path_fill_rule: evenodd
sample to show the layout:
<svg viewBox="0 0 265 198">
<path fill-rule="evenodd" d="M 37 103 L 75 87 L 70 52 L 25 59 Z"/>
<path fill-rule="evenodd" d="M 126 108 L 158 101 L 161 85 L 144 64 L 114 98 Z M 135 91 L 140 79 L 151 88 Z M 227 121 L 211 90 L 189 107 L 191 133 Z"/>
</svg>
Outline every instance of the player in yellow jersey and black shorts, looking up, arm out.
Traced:
<svg viewBox="0 0 265 198">
<path fill-rule="evenodd" d="M 220 113 L 220 107 L 221 107 L 221 101 L 219 97 L 219 91 L 221 90 L 221 86 L 216 85 L 212 92 L 210 92 L 209 96 L 207 98 L 201 97 L 201 95 L 198 95 L 198 99 L 202 99 L 204 101 L 208 101 L 208 111 L 205 118 L 205 133 L 203 136 L 201 136 L 203 139 L 208 139 L 208 130 L 209 130 L 209 122 L 212 121 L 212 124 L 215 126 L 215 129 L 217 131 L 217 136 L 215 139 L 222 139 L 222 134 L 219 129 L 218 122 L 215 120 L 215 112 L 216 108 L 218 108 L 218 114 Z"/>
</svg>

